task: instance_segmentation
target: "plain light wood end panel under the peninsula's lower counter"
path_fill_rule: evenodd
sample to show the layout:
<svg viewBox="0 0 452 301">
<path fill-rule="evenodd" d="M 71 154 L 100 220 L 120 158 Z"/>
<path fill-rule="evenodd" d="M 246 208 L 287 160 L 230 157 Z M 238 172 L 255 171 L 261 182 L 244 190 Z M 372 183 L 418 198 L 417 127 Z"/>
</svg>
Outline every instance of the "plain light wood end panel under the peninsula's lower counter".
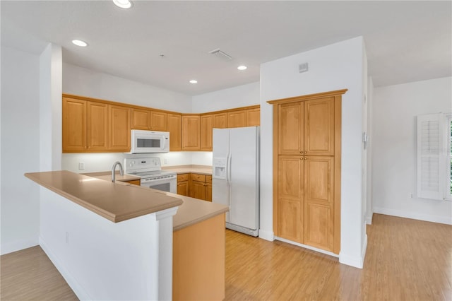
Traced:
<svg viewBox="0 0 452 301">
<path fill-rule="evenodd" d="M 225 213 L 173 232 L 173 300 L 225 299 Z"/>
</svg>

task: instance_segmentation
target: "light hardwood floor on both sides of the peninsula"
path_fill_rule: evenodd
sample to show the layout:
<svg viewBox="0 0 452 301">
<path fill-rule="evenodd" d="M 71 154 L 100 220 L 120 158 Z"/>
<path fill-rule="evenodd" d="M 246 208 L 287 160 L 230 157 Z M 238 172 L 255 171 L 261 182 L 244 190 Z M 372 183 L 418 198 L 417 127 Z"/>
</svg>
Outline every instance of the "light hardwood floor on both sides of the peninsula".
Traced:
<svg viewBox="0 0 452 301">
<path fill-rule="evenodd" d="M 452 226 L 374 214 L 364 268 L 227 230 L 226 300 L 452 300 Z M 76 300 L 40 247 L 1 256 L 1 300 Z"/>
</svg>

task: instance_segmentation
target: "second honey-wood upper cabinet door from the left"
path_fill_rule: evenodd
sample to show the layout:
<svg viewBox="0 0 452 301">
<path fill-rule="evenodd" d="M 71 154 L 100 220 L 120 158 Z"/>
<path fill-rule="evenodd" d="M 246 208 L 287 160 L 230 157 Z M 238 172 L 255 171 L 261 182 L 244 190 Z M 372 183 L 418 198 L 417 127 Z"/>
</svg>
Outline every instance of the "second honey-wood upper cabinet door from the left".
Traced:
<svg viewBox="0 0 452 301">
<path fill-rule="evenodd" d="M 108 105 L 88 102 L 88 151 L 108 151 Z"/>
</svg>

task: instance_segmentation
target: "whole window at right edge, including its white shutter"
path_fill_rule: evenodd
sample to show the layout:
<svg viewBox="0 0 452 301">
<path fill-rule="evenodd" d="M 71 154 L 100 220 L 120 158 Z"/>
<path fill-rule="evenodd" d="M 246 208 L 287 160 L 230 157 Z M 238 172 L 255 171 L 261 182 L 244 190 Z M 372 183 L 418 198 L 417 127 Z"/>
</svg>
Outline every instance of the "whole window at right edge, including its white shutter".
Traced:
<svg viewBox="0 0 452 301">
<path fill-rule="evenodd" d="M 417 117 L 417 196 L 452 200 L 452 114 Z"/>
</svg>

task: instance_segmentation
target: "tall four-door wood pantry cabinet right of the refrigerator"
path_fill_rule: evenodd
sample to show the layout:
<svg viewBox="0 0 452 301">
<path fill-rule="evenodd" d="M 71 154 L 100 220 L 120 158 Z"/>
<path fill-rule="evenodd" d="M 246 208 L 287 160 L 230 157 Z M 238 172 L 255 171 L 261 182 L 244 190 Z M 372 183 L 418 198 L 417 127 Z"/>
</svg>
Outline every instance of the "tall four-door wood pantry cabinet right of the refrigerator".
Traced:
<svg viewBox="0 0 452 301">
<path fill-rule="evenodd" d="M 272 100 L 273 231 L 340 251 L 341 101 L 347 90 Z"/>
</svg>

